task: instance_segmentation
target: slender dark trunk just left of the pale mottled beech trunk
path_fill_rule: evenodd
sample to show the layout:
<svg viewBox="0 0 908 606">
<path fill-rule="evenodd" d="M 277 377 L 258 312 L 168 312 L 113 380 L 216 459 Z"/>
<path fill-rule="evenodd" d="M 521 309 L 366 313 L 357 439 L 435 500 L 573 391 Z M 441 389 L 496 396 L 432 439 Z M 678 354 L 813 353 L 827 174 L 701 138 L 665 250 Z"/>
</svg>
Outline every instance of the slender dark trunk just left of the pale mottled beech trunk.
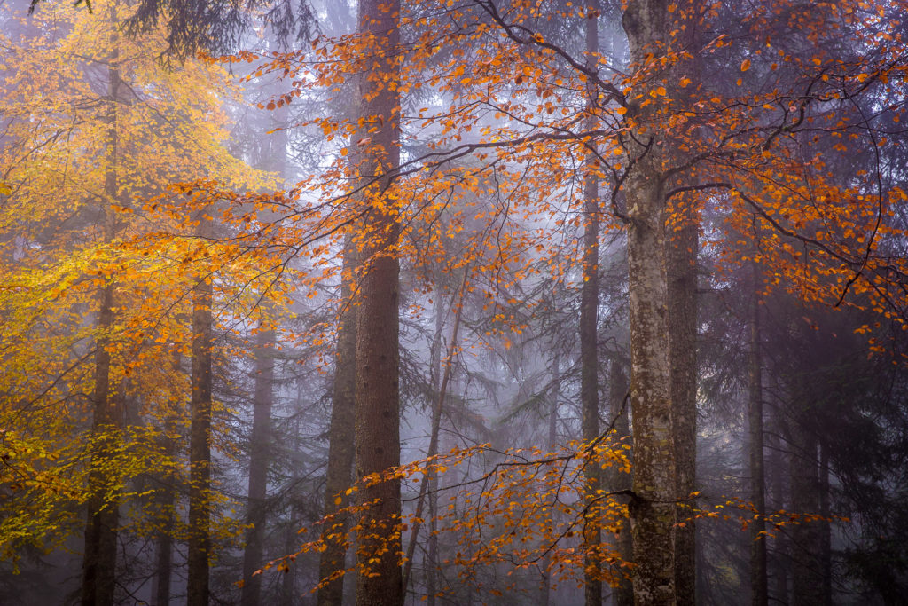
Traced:
<svg viewBox="0 0 908 606">
<path fill-rule="evenodd" d="M 598 0 L 587 1 L 587 69 L 595 71 L 599 52 Z M 587 84 L 587 128 L 596 127 L 597 87 L 592 79 Z M 599 308 L 599 187 L 596 174 L 597 159 L 587 157 L 587 174 L 584 175 L 584 233 L 583 233 L 583 285 L 580 291 L 580 408 L 583 440 L 589 442 L 599 435 L 599 367 L 597 353 L 597 313 Z M 585 470 L 587 503 L 597 498 L 601 484 L 601 465 L 590 462 Z M 602 531 L 596 519 L 597 509 L 588 508 L 583 521 L 584 603 L 600 606 L 602 603 L 602 559 L 600 549 Z"/>
</svg>

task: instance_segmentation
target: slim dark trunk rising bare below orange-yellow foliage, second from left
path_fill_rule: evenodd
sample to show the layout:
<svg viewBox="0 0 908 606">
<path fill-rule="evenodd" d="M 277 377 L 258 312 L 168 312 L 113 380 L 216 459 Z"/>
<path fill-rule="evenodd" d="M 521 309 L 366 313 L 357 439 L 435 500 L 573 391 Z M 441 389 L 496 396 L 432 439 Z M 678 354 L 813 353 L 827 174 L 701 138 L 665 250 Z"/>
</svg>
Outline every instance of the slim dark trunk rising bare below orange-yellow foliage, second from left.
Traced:
<svg viewBox="0 0 908 606">
<path fill-rule="evenodd" d="M 205 221 L 205 219 L 202 219 Z M 212 283 L 192 290 L 192 399 L 189 430 L 189 578 L 187 604 L 207 606 L 211 552 Z"/>
</svg>

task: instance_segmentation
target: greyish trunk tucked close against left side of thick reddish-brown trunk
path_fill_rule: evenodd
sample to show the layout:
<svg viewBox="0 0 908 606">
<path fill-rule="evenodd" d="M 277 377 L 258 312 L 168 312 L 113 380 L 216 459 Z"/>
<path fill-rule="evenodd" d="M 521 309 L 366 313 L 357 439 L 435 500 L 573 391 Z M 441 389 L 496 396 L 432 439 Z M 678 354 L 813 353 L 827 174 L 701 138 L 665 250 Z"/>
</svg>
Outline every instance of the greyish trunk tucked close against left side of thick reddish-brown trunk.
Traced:
<svg viewBox="0 0 908 606">
<path fill-rule="evenodd" d="M 325 477 L 325 515 L 349 506 L 343 491 L 353 483 L 353 403 L 356 391 L 356 316 L 359 306 L 352 301 L 351 284 L 354 270 L 353 246 L 348 239 L 344 246 L 344 272 L 341 283 L 341 298 L 346 308 L 338 324 L 338 344 L 334 357 L 334 385 L 331 400 L 331 422 L 328 429 L 328 472 Z M 341 494 L 341 502 L 335 497 Z M 346 566 L 347 550 L 340 541 L 330 534 L 345 534 L 348 526 L 346 517 L 335 521 L 322 533 L 327 548 L 321 552 L 319 579 L 338 574 Z M 319 606 L 341 606 L 343 585 L 346 575 L 326 583 L 319 589 Z"/>
</svg>

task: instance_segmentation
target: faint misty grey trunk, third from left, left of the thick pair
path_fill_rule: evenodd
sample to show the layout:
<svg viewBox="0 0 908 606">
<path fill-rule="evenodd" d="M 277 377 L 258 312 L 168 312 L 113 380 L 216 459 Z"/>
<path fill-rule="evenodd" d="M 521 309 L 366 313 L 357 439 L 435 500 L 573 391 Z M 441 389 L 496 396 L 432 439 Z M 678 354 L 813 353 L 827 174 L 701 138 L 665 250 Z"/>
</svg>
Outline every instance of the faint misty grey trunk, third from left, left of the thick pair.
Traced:
<svg viewBox="0 0 908 606">
<path fill-rule="evenodd" d="M 262 575 L 255 574 L 264 563 L 264 536 L 268 498 L 268 466 L 271 462 L 271 403 L 273 402 L 274 351 L 272 329 L 258 335 L 255 351 L 255 387 L 252 395 L 252 450 L 249 457 L 249 503 L 246 549 L 242 560 L 243 606 L 256 606 L 262 592 Z"/>
</svg>

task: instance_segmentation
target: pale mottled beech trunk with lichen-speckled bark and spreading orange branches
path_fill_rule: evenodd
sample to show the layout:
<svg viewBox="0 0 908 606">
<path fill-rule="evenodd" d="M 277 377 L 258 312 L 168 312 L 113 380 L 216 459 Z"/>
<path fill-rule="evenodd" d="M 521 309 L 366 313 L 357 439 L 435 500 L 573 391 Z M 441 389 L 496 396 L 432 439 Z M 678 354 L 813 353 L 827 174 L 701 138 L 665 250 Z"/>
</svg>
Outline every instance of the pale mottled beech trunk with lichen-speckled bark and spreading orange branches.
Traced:
<svg viewBox="0 0 908 606">
<path fill-rule="evenodd" d="M 627 4 L 623 25 L 631 62 L 666 43 L 667 0 Z M 627 192 L 627 271 L 630 295 L 631 414 L 634 418 L 634 602 L 674 604 L 676 447 L 672 428 L 671 339 L 666 279 L 666 189 L 658 104 L 644 103 L 648 88 L 631 95 L 625 140 L 630 155 Z"/>
</svg>

